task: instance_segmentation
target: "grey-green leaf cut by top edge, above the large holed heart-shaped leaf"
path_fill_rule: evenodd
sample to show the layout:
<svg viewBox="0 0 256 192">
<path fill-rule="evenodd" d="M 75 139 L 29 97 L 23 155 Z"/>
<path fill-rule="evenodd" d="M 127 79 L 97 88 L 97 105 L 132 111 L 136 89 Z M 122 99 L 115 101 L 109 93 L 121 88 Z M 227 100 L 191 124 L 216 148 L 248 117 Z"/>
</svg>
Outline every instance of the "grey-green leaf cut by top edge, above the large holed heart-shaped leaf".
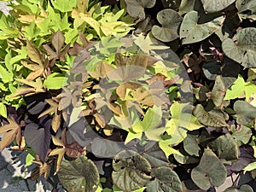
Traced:
<svg viewBox="0 0 256 192">
<path fill-rule="evenodd" d="M 207 13 L 218 12 L 225 9 L 230 4 L 236 2 L 236 0 L 217 0 L 217 1 L 207 1 L 201 0 L 203 7 Z"/>
</svg>

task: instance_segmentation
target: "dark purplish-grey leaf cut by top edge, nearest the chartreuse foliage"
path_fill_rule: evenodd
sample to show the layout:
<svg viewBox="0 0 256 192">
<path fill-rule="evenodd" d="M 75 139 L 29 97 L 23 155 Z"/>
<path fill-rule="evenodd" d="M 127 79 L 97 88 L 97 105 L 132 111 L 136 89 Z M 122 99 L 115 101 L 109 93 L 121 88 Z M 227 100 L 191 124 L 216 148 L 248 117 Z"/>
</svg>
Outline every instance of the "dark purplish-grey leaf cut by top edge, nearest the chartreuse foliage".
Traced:
<svg viewBox="0 0 256 192">
<path fill-rule="evenodd" d="M 145 19 L 144 8 L 153 8 L 156 0 L 125 0 L 127 12 L 138 21 Z"/>
</svg>

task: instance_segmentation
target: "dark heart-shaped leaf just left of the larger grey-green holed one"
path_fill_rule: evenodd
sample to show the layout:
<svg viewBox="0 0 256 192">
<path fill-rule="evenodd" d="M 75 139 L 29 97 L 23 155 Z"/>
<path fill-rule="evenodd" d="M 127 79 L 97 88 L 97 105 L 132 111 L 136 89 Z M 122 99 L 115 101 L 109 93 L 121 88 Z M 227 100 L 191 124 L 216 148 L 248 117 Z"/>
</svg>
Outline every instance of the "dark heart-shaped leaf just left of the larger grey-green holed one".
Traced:
<svg viewBox="0 0 256 192">
<path fill-rule="evenodd" d="M 182 16 L 173 9 L 164 9 L 158 12 L 157 20 L 162 27 L 152 27 L 152 34 L 155 38 L 163 42 L 170 42 L 178 38 L 177 28 L 183 20 Z"/>
</svg>

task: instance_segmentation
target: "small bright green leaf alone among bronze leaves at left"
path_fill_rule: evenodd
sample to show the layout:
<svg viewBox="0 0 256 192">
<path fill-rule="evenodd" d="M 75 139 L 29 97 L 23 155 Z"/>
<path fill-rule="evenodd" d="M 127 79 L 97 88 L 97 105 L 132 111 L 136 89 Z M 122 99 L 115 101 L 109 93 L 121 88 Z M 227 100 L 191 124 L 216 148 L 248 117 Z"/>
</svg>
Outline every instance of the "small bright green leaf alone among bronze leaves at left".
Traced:
<svg viewBox="0 0 256 192">
<path fill-rule="evenodd" d="M 67 85 L 67 77 L 62 77 L 59 73 L 51 73 L 44 80 L 44 86 L 48 90 L 59 90 L 65 85 Z"/>
</svg>

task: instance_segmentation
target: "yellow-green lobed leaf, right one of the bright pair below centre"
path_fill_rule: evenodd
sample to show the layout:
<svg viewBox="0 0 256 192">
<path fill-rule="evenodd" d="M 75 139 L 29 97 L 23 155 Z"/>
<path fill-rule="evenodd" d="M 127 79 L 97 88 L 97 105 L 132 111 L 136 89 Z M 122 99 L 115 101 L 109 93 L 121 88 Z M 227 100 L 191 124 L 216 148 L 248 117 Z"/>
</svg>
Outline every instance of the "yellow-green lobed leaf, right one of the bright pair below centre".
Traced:
<svg viewBox="0 0 256 192">
<path fill-rule="evenodd" d="M 170 139 L 172 145 L 181 143 L 187 136 L 187 131 L 194 131 L 203 126 L 191 114 L 192 110 L 188 103 L 174 102 L 170 110 L 172 118 L 166 123 L 166 132 L 172 137 Z"/>
</svg>

